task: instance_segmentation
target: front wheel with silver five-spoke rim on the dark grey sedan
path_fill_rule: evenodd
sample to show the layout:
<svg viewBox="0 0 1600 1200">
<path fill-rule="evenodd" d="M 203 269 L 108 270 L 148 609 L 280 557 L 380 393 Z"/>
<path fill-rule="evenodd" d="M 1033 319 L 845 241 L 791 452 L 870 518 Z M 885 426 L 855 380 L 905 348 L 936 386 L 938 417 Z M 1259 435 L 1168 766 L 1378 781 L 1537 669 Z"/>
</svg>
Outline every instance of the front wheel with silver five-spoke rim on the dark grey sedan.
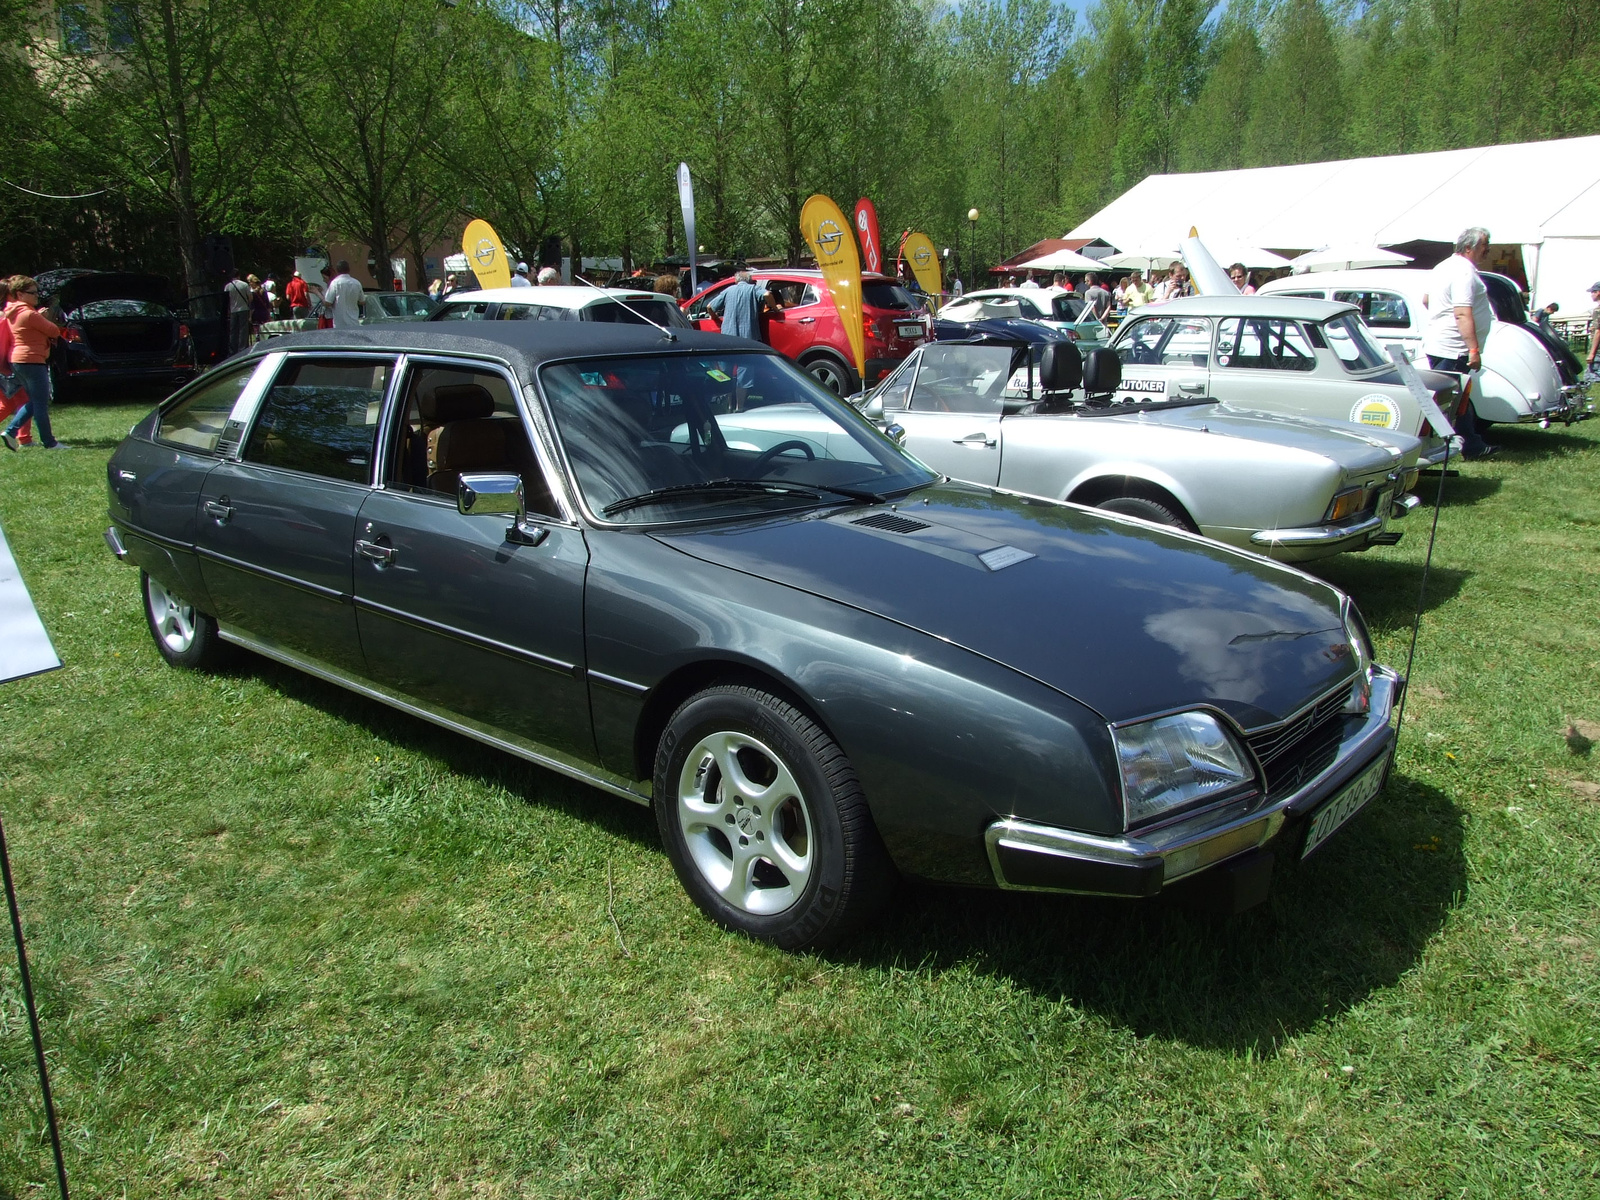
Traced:
<svg viewBox="0 0 1600 1200">
<path fill-rule="evenodd" d="M 672 714 L 656 750 L 654 808 L 701 912 L 786 950 L 837 942 L 893 885 L 845 752 L 757 688 L 707 688 Z"/>
</svg>

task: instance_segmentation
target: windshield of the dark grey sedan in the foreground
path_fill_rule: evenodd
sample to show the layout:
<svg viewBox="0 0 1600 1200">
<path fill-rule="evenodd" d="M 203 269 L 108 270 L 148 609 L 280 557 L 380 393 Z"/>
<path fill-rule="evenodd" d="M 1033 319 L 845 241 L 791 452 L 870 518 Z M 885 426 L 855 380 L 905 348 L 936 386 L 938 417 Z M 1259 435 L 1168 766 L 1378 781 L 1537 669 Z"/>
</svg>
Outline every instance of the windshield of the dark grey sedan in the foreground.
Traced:
<svg viewBox="0 0 1600 1200">
<path fill-rule="evenodd" d="M 786 358 L 661 354 L 539 374 L 589 510 L 693 522 L 877 501 L 938 477 Z"/>
</svg>

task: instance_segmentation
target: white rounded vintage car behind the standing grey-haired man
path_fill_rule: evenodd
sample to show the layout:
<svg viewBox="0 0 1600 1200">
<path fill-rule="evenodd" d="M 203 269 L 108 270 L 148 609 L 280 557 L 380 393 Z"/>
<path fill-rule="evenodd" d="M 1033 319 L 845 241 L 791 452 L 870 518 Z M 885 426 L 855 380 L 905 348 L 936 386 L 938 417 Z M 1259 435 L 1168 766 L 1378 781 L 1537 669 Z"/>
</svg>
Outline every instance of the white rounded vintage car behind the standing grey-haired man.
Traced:
<svg viewBox="0 0 1600 1200">
<path fill-rule="evenodd" d="M 1398 342 L 1418 363 L 1429 310 L 1427 270 L 1330 270 L 1290 275 L 1261 288 L 1270 296 L 1312 296 L 1355 304 L 1382 346 Z M 1483 374 L 1472 411 L 1480 424 L 1571 424 L 1589 413 L 1589 389 L 1576 357 L 1528 322 L 1515 282 L 1483 272 L 1494 325 L 1483 342 Z"/>
</svg>

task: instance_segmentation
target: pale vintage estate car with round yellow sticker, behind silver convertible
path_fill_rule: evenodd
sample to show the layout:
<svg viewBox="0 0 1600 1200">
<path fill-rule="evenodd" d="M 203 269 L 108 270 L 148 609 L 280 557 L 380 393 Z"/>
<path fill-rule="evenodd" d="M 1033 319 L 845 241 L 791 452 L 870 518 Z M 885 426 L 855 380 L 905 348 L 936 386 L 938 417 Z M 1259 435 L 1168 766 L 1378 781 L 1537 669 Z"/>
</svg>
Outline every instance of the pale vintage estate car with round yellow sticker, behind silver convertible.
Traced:
<svg viewBox="0 0 1600 1200">
<path fill-rule="evenodd" d="M 1187 296 L 1138 309 L 1112 349 L 1122 360 L 1118 400 L 1211 397 L 1229 408 L 1411 434 L 1422 440 L 1424 462 L 1445 454 L 1445 440 L 1427 424 L 1354 304 Z M 1419 374 L 1450 413 L 1459 378 L 1448 371 Z"/>
</svg>

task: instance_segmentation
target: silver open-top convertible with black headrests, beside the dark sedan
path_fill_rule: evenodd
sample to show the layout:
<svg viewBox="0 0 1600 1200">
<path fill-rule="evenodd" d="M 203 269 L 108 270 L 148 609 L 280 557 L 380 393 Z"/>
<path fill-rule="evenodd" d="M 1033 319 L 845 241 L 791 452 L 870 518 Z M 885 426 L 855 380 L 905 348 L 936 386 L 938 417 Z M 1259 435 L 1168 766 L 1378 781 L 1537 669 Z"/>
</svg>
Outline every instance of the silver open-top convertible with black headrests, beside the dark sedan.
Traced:
<svg viewBox="0 0 1600 1200">
<path fill-rule="evenodd" d="M 1182 392 L 1117 392 L 1110 350 L 936 342 L 864 411 L 952 478 L 1186 528 L 1283 562 L 1392 544 L 1418 504 L 1418 438 Z M 1080 384 L 1085 390 L 1075 390 Z M 1112 398 L 1117 395 L 1118 398 Z"/>
</svg>

